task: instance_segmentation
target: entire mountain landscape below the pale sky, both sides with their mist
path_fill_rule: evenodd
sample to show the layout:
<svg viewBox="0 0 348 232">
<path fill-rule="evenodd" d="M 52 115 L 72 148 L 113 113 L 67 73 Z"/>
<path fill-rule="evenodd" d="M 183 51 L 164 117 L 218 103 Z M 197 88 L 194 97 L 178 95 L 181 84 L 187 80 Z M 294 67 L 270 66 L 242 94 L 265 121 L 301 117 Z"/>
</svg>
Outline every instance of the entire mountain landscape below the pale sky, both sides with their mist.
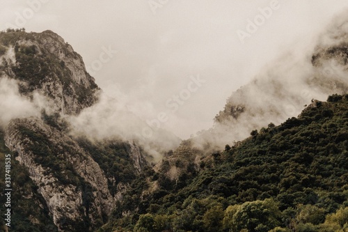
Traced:
<svg viewBox="0 0 348 232">
<path fill-rule="evenodd" d="M 56 33 L 2 31 L 10 231 L 347 230 L 347 24 L 267 65 L 186 141 L 107 98 Z"/>
</svg>

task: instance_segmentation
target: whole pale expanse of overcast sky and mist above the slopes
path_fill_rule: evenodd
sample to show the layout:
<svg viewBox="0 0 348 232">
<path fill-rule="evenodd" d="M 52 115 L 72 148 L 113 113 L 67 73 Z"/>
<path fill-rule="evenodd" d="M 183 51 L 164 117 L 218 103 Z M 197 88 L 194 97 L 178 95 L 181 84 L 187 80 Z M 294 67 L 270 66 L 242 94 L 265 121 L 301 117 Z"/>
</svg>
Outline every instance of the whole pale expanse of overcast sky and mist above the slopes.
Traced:
<svg viewBox="0 0 348 232">
<path fill-rule="evenodd" d="M 0 29 L 58 33 L 103 89 L 97 104 L 65 116 L 72 136 L 137 141 L 156 160 L 190 137 L 200 148 L 222 149 L 347 84 L 342 63 L 311 62 L 315 51 L 347 39 L 347 1 L 178 0 L 155 13 L 147 1 L 42 1 L 20 23 L 31 6 L 3 6 Z M 262 23 L 249 25 L 269 8 Z M 105 51 L 107 61 L 96 67 Z M 13 80 L 0 84 L 3 124 L 47 107 L 38 93 L 20 95 Z"/>
</svg>

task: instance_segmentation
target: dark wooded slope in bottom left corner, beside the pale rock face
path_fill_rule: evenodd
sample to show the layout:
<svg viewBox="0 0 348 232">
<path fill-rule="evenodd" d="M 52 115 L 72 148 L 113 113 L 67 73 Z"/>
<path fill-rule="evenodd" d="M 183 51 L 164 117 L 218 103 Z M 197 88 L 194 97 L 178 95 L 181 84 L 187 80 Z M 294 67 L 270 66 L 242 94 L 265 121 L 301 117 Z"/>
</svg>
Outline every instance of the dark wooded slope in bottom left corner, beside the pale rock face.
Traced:
<svg viewBox="0 0 348 232">
<path fill-rule="evenodd" d="M 13 189 L 11 196 L 11 230 L 12 231 L 58 231 L 49 214 L 45 199 L 38 193 L 38 187 L 29 178 L 26 168 L 14 159 L 4 141 L 4 133 L 0 130 L 0 162 L 5 163 L 5 154 L 11 155 L 10 176 Z M 0 175 L 5 176 L 5 169 L 0 169 Z M 6 189 L 5 183 L 0 183 L 2 190 Z M 6 202 L 5 195 L 0 194 L 1 203 Z M 4 208 L 0 208 L 1 215 L 5 215 Z M 6 231 L 5 221 L 0 222 L 0 231 Z"/>
</svg>

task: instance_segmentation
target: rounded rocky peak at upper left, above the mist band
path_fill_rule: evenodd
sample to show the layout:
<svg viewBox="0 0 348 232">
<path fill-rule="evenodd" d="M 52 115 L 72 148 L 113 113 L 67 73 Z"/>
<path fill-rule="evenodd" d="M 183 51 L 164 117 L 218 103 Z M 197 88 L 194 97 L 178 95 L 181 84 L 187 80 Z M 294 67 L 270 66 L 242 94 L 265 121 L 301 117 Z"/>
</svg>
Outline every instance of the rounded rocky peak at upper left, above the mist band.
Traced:
<svg viewBox="0 0 348 232">
<path fill-rule="evenodd" d="M 1 75 L 17 79 L 22 94 L 38 91 L 54 111 L 78 114 L 96 102 L 99 90 L 84 61 L 52 31 L 0 33 Z"/>
</svg>

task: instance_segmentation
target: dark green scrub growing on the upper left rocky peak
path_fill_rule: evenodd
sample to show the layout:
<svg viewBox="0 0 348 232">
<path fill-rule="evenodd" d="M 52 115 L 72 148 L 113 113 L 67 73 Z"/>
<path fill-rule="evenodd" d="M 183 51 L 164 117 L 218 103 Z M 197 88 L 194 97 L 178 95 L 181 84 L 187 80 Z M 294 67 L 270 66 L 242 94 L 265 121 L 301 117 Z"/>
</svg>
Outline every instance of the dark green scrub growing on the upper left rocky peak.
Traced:
<svg viewBox="0 0 348 232">
<path fill-rule="evenodd" d="M 63 86 L 63 95 L 77 95 L 76 100 L 85 105 L 91 105 L 95 101 L 95 90 L 97 85 L 90 83 L 89 87 L 81 85 L 74 81 L 72 72 L 67 68 L 64 61 L 58 59 L 56 54 L 45 49 L 45 42 L 50 36 L 49 33 L 26 33 L 24 29 L 2 31 L 0 33 L 0 55 L 3 46 L 15 47 L 16 65 L 7 68 L 0 68 L 0 71 L 6 72 L 9 77 L 19 79 L 22 84 L 19 85 L 21 93 L 31 93 L 38 88 L 45 88 L 49 97 L 55 96 L 51 93 L 51 86 L 47 86 L 47 82 L 58 82 Z M 36 41 L 35 45 L 24 45 L 21 41 Z M 21 44 L 21 45 L 19 45 Z M 66 54 L 71 54 L 68 48 L 63 47 Z M 75 56 L 76 54 L 72 54 Z M 12 70 L 13 72 L 10 72 Z M 14 75 L 13 75 L 14 74 Z"/>
</svg>

